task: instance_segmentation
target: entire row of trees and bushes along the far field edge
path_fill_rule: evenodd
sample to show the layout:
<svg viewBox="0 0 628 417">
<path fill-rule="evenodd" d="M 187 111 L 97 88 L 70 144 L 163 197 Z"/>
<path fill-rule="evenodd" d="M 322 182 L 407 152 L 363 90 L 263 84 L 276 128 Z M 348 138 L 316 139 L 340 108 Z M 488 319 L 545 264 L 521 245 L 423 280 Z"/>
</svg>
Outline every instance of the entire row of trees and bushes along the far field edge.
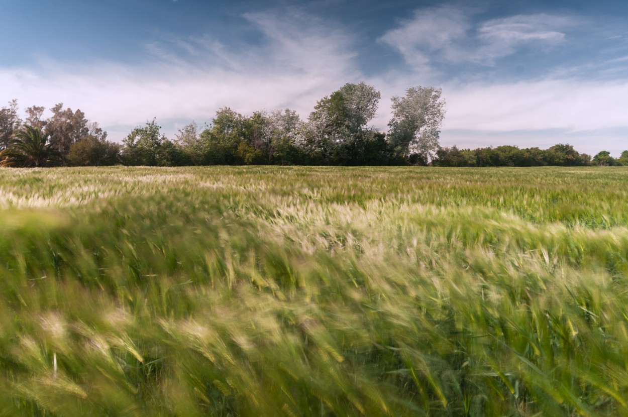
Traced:
<svg viewBox="0 0 628 417">
<path fill-rule="evenodd" d="M 628 151 L 614 159 L 607 151 L 593 158 L 569 144 L 549 149 L 516 146 L 441 148 L 445 116 L 441 89 L 410 87 L 392 99 L 389 130 L 369 126 L 381 95 L 364 82 L 345 84 L 318 100 L 307 120 L 291 109 L 256 111 L 243 116 L 229 107 L 212 122 L 192 122 L 171 140 L 155 119 L 135 127 L 122 143 L 80 110 L 57 104 L 18 114 L 12 100 L 0 109 L 0 166 L 185 166 L 185 165 L 435 165 L 435 166 L 582 166 L 628 165 Z"/>
</svg>

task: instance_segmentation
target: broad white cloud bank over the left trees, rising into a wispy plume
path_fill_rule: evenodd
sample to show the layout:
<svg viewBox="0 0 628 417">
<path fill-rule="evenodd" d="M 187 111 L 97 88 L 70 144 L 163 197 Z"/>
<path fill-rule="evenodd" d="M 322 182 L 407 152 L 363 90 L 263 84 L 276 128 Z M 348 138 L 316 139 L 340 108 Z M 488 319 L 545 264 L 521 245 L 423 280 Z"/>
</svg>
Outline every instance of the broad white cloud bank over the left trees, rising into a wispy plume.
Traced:
<svg viewBox="0 0 628 417">
<path fill-rule="evenodd" d="M 122 131 L 153 117 L 203 122 L 223 106 L 244 114 L 291 107 L 307 116 L 316 100 L 359 79 L 351 38 L 337 28 L 298 13 L 245 18 L 259 30 L 256 46 L 172 38 L 147 45 L 143 65 L 46 60 L 38 68 L 0 68 L 0 85 L 21 107 L 80 108 L 121 139 Z"/>
</svg>

